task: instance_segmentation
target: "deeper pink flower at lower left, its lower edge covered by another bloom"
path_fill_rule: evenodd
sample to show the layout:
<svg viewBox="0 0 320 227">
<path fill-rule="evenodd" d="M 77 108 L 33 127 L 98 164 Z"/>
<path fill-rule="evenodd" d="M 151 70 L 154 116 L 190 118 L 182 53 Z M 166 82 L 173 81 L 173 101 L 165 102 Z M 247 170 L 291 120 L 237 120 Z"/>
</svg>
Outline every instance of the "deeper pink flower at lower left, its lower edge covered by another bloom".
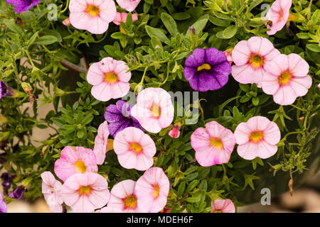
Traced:
<svg viewBox="0 0 320 227">
<path fill-rule="evenodd" d="M 95 153 L 89 148 L 67 146 L 55 161 L 55 174 L 65 181 L 78 172 L 97 172 Z"/>
</svg>

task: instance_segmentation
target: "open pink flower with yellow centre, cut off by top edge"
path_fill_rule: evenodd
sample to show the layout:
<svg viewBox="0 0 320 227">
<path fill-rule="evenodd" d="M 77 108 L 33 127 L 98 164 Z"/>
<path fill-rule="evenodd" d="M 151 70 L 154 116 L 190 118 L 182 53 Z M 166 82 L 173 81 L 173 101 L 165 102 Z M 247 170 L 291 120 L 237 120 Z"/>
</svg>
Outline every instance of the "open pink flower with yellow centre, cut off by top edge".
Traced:
<svg viewBox="0 0 320 227">
<path fill-rule="evenodd" d="M 112 0 L 70 0 L 70 23 L 78 29 L 102 34 L 116 16 Z"/>
</svg>

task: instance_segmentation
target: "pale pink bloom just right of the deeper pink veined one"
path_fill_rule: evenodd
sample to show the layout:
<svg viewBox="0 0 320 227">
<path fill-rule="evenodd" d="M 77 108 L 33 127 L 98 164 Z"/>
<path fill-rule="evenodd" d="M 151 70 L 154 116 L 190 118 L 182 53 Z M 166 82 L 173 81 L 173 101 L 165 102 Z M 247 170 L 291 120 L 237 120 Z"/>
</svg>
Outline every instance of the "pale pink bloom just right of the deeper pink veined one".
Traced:
<svg viewBox="0 0 320 227">
<path fill-rule="evenodd" d="M 238 155 L 246 160 L 268 158 L 277 153 L 281 134 L 276 123 L 264 116 L 254 116 L 235 128 Z"/>
</svg>

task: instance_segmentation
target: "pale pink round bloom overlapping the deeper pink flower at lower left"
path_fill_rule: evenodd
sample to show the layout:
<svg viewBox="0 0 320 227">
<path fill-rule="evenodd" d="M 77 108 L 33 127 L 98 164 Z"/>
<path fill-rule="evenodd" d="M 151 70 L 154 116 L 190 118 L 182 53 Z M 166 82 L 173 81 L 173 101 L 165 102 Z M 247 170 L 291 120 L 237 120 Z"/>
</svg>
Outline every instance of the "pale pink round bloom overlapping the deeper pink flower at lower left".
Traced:
<svg viewBox="0 0 320 227">
<path fill-rule="evenodd" d="M 72 175 L 65 180 L 60 194 L 76 213 L 93 212 L 110 199 L 107 179 L 93 172 Z"/>
</svg>

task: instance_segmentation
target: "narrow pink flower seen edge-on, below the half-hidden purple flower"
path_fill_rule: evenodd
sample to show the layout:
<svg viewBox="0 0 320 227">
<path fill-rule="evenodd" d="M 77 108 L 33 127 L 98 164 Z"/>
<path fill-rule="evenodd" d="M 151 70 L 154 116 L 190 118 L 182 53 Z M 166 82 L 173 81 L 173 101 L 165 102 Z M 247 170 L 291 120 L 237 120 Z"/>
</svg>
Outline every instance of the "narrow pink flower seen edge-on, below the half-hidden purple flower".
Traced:
<svg viewBox="0 0 320 227">
<path fill-rule="evenodd" d="M 109 134 L 108 123 L 104 121 L 98 128 L 97 136 L 95 137 L 95 147 L 93 148 L 93 153 L 97 157 L 97 165 L 102 165 L 105 161 Z"/>
</svg>

